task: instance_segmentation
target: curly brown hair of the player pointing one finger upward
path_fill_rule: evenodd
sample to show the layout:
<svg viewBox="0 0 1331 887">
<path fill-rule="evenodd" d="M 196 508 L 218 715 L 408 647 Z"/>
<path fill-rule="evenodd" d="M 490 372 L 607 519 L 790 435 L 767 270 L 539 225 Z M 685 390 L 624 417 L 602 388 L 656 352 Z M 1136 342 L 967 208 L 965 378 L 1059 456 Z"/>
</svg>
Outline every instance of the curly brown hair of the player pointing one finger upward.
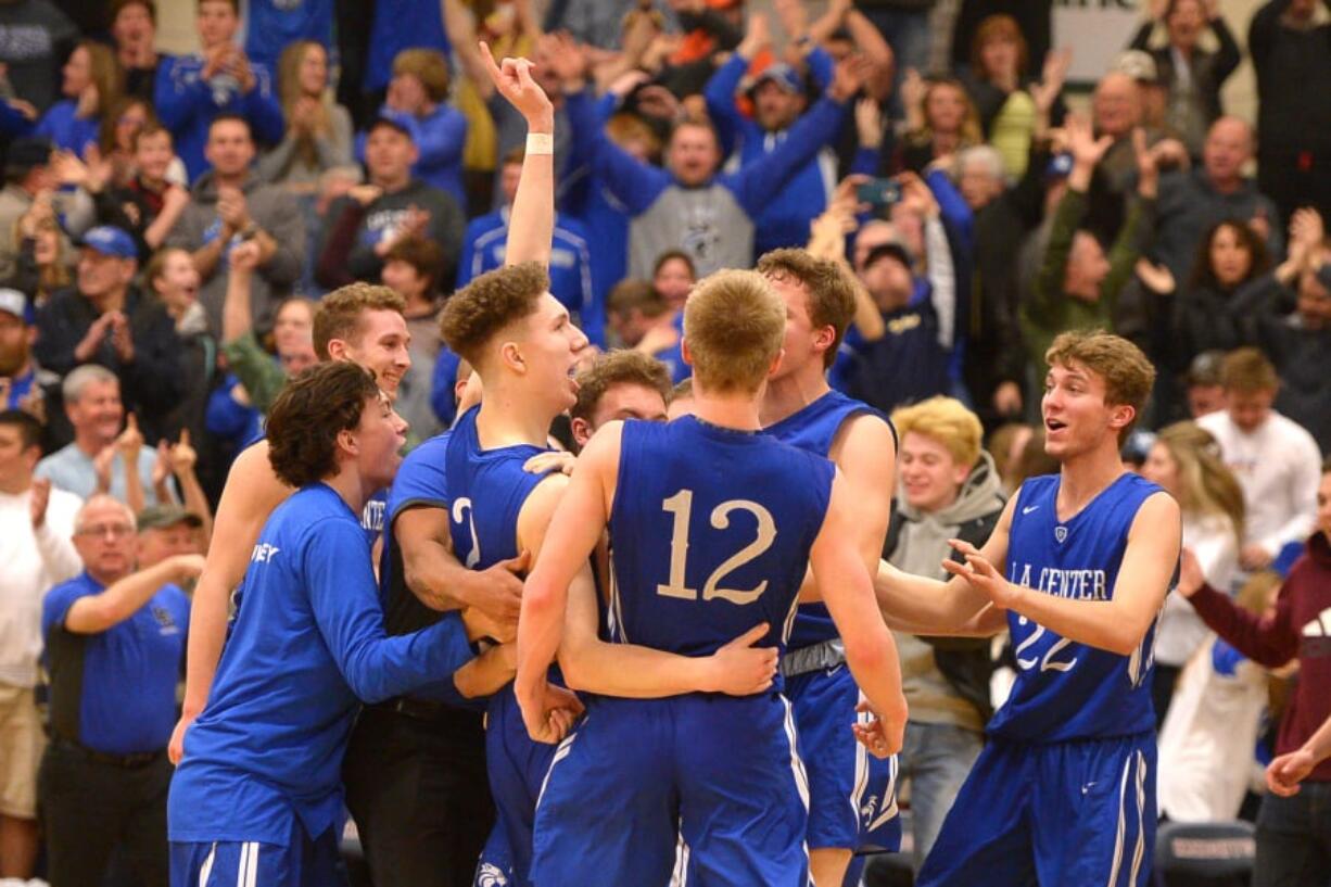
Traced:
<svg viewBox="0 0 1331 887">
<path fill-rule="evenodd" d="M 445 344 L 479 372 L 486 345 L 510 324 L 536 310 L 550 289 L 540 262 L 523 262 L 487 272 L 449 297 L 439 314 Z"/>
</svg>

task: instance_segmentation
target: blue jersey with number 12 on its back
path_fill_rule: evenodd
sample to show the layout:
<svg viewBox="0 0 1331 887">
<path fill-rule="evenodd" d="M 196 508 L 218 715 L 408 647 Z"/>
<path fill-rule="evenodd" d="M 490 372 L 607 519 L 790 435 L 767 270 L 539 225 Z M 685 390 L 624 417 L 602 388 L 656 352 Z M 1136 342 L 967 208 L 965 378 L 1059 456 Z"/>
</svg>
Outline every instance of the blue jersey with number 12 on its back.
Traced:
<svg viewBox="0 0 1331 887">
<path fill-rule="evenodd" d="M 785 649 L 835 467 L 685 416 L 626 422 L 610 515 L 611 637 L 709 655 L 767 622 Z"/>
</svg>

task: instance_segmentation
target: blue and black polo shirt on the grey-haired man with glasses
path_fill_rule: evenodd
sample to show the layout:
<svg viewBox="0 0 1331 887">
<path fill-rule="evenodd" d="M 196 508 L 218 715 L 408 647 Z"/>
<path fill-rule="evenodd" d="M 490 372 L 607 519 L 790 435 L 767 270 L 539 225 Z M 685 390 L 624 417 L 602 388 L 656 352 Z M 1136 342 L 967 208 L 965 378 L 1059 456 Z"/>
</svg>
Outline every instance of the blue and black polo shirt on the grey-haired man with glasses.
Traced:
<svg viewBox="0 0 1331 887">
<path fill-rule="evenodd" d="M 52 730 L 110 755 L 161 751 L 176 727 L 189 598 L 174 585 L 164 585 L 133 615 L 105 631 L 65 629 L 75 601 L 105 587 L 81 573 L 51 589 L 41 602 Z"/>
</svg>

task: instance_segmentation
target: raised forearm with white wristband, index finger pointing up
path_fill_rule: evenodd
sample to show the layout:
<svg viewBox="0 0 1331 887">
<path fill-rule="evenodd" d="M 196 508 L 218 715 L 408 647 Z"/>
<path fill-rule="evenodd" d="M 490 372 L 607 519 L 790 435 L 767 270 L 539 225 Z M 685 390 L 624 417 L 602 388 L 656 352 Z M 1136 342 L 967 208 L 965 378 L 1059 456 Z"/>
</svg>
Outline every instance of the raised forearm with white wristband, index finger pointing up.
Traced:
<svg viewBox="0 0 1331 887">
<path fill-rule="evenodd" d="M 512 198 L 508 221 L 506 265 L 536 261 L 550 264 L 555 236 L 555 111 L 550 97 L 531 79 L 526 59 L 504 59 L 495 64 L 490 47 L 480 44 L 480 55 L 490 81 L 527 121 L 527 153 L 522 161 L 522 178 Z"/>
</svg>

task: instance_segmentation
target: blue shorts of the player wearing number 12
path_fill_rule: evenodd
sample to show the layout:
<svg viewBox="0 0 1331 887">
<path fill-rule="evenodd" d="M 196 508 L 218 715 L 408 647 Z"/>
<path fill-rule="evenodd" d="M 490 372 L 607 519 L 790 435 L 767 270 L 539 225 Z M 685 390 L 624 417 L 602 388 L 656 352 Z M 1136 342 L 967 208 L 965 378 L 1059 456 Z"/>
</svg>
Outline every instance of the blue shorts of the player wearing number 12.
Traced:
<svg viewBox="0 0 1331 887">
<path fill-rule="evenodd" d="M 692 694 L 594 698 L 536 810 L 540 887 L 805 887 L 808 788 L 789 703 Z M 687 862 L 684 862 L 687 859 Z"/>
</svg>

